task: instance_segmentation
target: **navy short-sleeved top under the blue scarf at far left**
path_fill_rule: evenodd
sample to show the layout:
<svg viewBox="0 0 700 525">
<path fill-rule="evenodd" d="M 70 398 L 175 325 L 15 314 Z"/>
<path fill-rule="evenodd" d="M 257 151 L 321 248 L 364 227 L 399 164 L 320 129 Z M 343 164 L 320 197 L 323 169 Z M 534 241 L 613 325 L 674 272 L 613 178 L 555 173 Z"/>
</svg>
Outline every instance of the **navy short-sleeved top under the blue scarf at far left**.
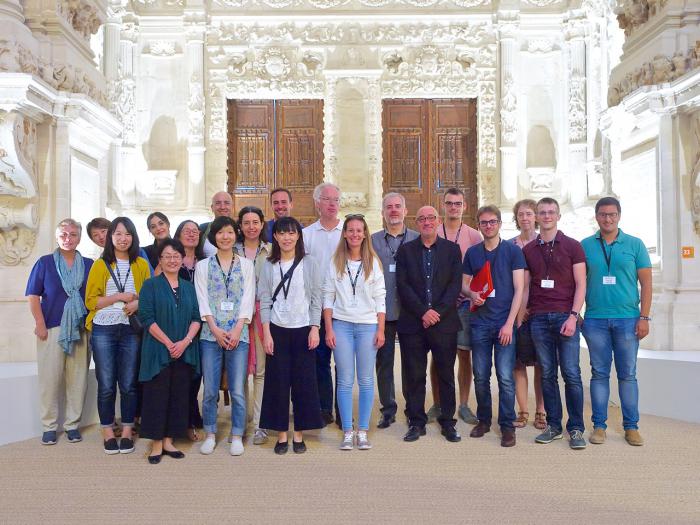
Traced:
<svg viewBox="0 0 700 525">
<path fill-rule="evenodd" d="M 85 276 L 80 287 L 80 297 L 85 301 L 85 283 L 92 268 L 92 259 L 83 257 L 85 266 Z M 56 328 L 61 325 L 63 307 L 68 300 L 66 292 L 63 291 L 61 278 L 56 271 L 56 263 L 53 254 L 44 255 L 34 264 L 32 272 L 29 274 L 27 289 L 24 295 L 38 295 L 41 297 L 41 313 L 44 314 L 46 328 Z"/>
</svg>

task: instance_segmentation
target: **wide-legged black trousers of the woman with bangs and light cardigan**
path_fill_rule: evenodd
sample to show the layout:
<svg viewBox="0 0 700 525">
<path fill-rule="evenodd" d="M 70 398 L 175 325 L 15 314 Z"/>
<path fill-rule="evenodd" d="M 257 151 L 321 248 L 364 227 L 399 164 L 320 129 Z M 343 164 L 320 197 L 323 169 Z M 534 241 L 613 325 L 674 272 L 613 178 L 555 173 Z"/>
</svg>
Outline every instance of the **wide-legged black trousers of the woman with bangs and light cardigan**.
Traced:
<svg viewBox="0 0 700 525">
<path fill-rule="evenodd" d="M 260 428 L 289 430 L 289 397 L 294 430 L 323 428 L 316 382 L 316 352 L 309 350 L 308 326 L 282 328 L 270 323 L 274 354 L 265 356 L 265 386 Z"/>
</svg>

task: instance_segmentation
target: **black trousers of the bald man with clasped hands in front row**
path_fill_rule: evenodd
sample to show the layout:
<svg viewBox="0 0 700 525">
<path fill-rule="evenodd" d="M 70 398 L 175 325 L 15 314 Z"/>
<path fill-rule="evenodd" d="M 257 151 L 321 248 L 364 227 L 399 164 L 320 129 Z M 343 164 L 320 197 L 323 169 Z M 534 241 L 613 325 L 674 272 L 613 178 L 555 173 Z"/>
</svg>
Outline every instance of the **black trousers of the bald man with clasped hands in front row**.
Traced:
<svg viewBox="0 0 700 525">
<path fill-rule="evenodd" d="M 454 426 L 455 413 L 455 359 L 457 357 L 457 332 L 424 330 L 416 334 L 399 333 L 401 348 L 401 371 L 403 396 L 406 399 L 406 416 L 409 426 L 424 427 L 428 422 L 425 414 L 425 379 L 428 367 L 428 352 L 438 374 L 440 389 L 440 425 Z"/>
</svg>

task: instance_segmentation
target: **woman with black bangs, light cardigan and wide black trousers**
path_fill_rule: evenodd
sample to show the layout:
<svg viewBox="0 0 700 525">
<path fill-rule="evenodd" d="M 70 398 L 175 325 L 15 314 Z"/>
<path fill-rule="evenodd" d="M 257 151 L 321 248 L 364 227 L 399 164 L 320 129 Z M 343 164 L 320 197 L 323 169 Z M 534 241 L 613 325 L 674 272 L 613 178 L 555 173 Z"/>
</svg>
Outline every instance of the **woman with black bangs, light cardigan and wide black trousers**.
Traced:
<svg viewBox="0 0 700 525">
<path fill-rule="evenodd" d="M 273 227 L 272 253 L 258 285 L 263 345 L 267 354 L 260 425 L 276 430 L 276 454 L 289 449 L 289 396 L 294 407 L 295 453 L 306 452 L 302 432 L 322 428 L 318 410 L 316 353 L 321 320 L 321 278 L 304 256 L 301 224 L 282 217 Z"/>
</svg>

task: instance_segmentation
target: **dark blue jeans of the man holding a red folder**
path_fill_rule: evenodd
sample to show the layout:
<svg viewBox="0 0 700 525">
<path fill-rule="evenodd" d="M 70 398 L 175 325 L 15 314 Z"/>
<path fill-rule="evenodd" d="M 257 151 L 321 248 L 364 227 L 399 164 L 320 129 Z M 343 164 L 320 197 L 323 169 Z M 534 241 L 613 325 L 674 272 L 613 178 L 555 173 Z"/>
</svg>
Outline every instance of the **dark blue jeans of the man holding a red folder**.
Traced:
<svg viewBox="0 0 700 525">
<path fill-rule="evenodd" d="M 515 340 L 502 345 L 498 340 L 500 329 L 501 325 L 471 325 L 476 417 L 483 423 L 491 424 L 491 362 L 494 361 L 498 379 L 498 425 L 501 429 L 512 429 L 515 420 Z"/>
</svg>

